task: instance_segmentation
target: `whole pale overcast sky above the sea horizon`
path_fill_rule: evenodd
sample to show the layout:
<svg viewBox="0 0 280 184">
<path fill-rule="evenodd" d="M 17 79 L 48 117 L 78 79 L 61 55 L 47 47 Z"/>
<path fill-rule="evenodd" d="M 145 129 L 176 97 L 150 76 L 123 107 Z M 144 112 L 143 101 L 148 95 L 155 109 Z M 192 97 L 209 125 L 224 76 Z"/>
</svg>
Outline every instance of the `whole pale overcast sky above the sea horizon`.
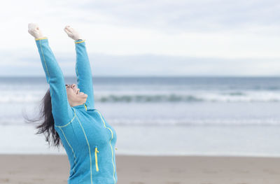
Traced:
<svg viewBox="0 0 280 184">
<path fill-rule="evenodd" d="M 67 24 L 95 76 L 280 76 L 279 1 L 3 1 L 0 20 L 1 76 L 45 75 L 29 22 L 65 76 L 76 59 Z"/>
</svg>

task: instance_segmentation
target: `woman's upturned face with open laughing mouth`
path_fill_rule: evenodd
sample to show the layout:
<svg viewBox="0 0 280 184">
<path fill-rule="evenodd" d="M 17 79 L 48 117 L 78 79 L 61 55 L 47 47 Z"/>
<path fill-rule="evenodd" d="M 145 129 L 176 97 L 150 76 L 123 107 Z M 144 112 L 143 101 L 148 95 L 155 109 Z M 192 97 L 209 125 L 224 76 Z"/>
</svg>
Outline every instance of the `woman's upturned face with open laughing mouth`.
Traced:
<svg viewBox="0 0 280 184">
<path fill-rule="evenodd" d="M 87 100 L 87 94 L 80 92 L 80 89 L 78 89 L 77 85 L 75 84 L 65 86 L 70 106 L 85 104 L 85 101 Z"/>
</svg>

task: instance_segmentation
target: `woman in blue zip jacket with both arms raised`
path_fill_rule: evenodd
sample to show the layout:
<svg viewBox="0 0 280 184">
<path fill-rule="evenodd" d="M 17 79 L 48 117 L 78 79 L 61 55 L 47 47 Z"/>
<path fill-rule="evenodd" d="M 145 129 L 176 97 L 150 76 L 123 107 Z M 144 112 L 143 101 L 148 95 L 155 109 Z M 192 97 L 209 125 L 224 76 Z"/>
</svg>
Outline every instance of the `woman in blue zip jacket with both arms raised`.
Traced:
<svg viewBox="0 0 280 184">
<path fill-rule="evenodd" d="M 85 40 L 80 39 L 73 28 L 64 28 L 76 46 L 78 80 L 78 85 L 65 85 L 48 38 L 43 36 L 37 24 L 31 23 L 28 27 L 29 34 L 35 38 L 50 85 L 42 104 L 44 122 L 38 128 L 41 133 L 51 134 L 56 146 L 62 142 L 71 167 L 68 183 L 116 184 L 116 132 L 94 108 L 92 73 Z"/>
</svg>

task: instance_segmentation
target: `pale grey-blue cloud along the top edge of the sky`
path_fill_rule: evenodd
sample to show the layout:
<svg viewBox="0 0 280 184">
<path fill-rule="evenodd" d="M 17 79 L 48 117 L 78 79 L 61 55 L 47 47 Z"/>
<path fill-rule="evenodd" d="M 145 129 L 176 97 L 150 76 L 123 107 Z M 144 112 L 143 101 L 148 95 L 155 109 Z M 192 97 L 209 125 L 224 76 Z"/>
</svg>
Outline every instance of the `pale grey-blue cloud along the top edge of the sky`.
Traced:
<svg viewBox="0 0 280 184">
<path fill-rule="evenodd" d="M 162 32 L 173 31 L 223 31 L 250 29 L 279 23 L 279 1 L 75 1 L 79 12 L 88 17 L 110 17 L 106 23 L 128 27 L 147 27 Z M 62 6 L 66 6 L 63 4 Z M 102 20 L 103 21 L 103 20 Z"/>
</svg>

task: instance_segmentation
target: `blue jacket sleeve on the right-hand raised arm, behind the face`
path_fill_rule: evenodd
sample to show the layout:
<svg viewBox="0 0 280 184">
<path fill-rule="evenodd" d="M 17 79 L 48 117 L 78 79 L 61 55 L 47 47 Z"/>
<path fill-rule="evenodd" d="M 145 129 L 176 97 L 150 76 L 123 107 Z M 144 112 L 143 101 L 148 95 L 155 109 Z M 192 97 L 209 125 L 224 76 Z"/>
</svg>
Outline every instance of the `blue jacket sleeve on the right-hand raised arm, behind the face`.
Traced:
<svg viewBox="0 0 280 184">
<path fill-rule="evenodd" d="M 76 47 L 76 76 L 80 92 L 87 94 L 85 105 L 87 110 L 94 108 L 94 94 L 92 84 L 92 71 L 85 48 L 85 40 L 75 41 Z"/>
</svg>

